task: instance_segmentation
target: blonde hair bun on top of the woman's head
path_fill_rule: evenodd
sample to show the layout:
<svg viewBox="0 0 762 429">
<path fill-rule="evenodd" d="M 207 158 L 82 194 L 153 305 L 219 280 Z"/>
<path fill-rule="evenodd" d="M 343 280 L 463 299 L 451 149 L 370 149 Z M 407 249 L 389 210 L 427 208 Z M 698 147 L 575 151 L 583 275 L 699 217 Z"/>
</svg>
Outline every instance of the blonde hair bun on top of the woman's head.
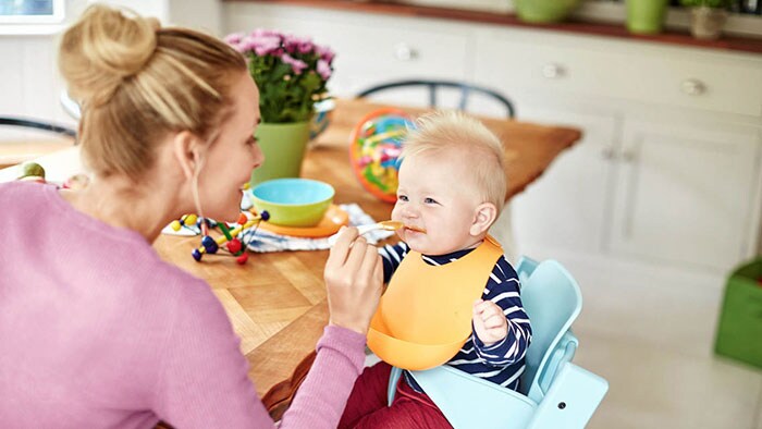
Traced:
<svg viewBox="0 0 762 429">
<path fill-rule="evenodd" d="M 101 4 L 89 7 L 61 40 L 59 68 L 70 95 L 85 105 L 111 98 L 157 46 L 159 21 Z"/>
</svg>

